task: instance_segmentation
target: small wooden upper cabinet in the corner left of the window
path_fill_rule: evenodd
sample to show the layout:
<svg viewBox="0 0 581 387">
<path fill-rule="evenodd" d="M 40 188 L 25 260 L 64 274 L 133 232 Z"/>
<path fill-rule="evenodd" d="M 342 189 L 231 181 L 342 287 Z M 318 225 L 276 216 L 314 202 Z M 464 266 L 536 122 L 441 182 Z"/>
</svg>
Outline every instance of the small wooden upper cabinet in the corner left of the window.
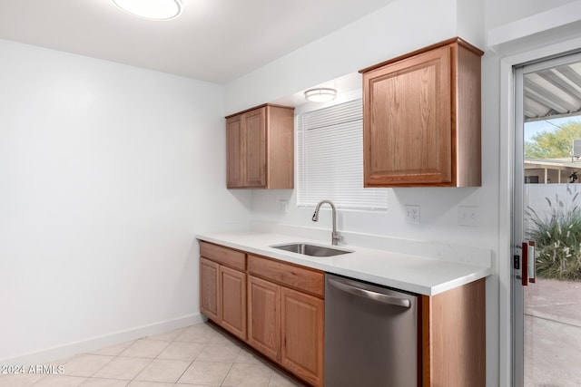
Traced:
<svg viewBox="0 0 581 387">
<path fill-rule="evenodd" d="M 262 105 L 226 117 L 229 189 L 294 187 L 294 109 Z"/>
</svg>

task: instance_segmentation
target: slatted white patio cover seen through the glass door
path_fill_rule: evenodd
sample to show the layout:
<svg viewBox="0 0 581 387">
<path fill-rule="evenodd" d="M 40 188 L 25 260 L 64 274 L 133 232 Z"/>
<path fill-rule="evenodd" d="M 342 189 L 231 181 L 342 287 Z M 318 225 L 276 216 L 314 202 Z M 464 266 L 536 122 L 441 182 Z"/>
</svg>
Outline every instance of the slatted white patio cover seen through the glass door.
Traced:
<svg viewBox="0 0 581 387">
<path fill-rule="evenodd" d="M 581 62 L 524 75 L 525 121 L 581 115 Z"/>
</svg>

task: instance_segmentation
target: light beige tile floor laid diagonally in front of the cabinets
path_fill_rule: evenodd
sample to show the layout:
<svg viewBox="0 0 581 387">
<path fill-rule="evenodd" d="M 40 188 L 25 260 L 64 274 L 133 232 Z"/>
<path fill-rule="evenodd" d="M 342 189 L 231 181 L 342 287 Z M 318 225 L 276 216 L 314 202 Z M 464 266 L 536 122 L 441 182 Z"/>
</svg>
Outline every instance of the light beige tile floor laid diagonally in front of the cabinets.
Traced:
<svg viewBox="0 0 581 387">
<path fill-rule="evenodd" d="M 211 324 L 51 362 L 54 372 L 4 374 L 0 387 L 297 387 Z"/>
</svg>

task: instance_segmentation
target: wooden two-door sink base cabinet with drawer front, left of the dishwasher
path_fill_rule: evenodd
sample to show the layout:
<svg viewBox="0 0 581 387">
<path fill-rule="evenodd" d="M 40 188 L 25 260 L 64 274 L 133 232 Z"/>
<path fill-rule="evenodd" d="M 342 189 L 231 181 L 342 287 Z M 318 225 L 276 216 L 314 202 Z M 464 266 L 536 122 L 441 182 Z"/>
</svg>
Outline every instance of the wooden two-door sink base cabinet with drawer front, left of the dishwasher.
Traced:
<svg viewBox="0 0 581 387">
<path fill-rule="evenodd" d="M 314 386 L 323 385 L 324 273 L 248 256 L 249 343 Z"/>
</svg>

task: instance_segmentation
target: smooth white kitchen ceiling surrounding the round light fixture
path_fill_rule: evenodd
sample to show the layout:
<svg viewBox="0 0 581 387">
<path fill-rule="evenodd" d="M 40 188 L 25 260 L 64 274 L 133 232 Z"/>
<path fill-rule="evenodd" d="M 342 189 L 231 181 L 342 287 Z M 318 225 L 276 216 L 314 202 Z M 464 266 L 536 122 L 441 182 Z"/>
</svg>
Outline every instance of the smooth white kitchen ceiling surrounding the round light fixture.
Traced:
<svg viewBox="0 0 581 387">
<path fill-rule="evenodd" d="M 112 0 L 0 1 L 0 39 L 227 83 L 393 0 L 182 0 L 171 21 Z"/>
</svg>

